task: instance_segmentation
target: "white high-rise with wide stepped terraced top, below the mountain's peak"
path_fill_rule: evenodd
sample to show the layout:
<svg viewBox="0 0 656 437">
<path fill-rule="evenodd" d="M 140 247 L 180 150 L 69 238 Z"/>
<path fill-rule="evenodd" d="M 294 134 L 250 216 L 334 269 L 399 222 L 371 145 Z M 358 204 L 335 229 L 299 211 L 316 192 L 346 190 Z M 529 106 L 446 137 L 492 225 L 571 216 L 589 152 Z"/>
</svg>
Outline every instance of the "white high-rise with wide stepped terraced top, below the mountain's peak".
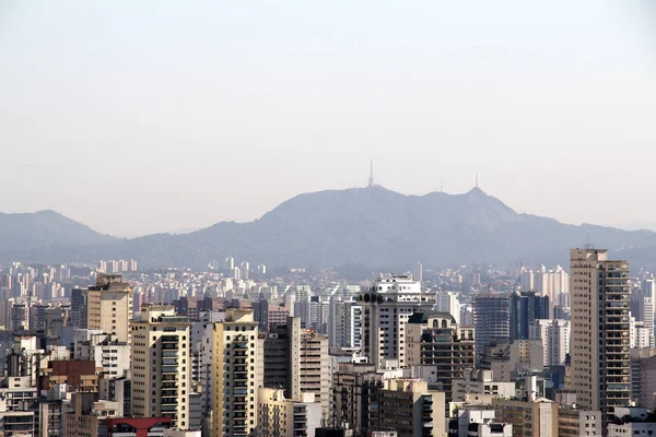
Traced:
<svg viewBox="0 0 656 437">
<path fill-rule="evenodd" d="M 415 311 L 430 311 L 434 296 L 407 275 L 382 276 L 358 296 L 362 307 L 362 355 L 376 367 L 386 362 L 407 365 L 406 322 Z"/>
</svg>

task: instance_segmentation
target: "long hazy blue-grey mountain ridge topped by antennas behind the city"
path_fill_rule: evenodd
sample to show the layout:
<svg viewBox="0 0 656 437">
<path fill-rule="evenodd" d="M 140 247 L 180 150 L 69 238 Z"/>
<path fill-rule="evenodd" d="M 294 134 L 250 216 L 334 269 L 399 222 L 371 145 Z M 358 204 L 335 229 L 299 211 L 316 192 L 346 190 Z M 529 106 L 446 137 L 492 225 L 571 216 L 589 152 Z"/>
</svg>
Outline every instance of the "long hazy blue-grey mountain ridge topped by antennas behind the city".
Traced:
<svg viewBox="0 0 656 437">
<path fill-rule="evenodd" d="M 634 268 L 656 267 L 655 233 L 574 226 L 518 214 L 478 188 L 464 194 L 405 196 L 382 187 L 305 193 L 254 222 L 222 222 L 181 235 L 117 240 L 86 229 L 92 233 L 87 238 L 75 234 L 74 241 L 57 244 L 42 227 L 39 238 L 49 244 L 30 256 L 17 251 L 12 259 L 21 255 L 30 261 L 50 262 L 136 258 L 143 267 L 203 267 L 233 256 L 278 267 L 408 269 L 417 261 L 512 267 L 519 258 L 528 265 L 566 264 L 569 249 L 589 239 L 629 259 Z M 61 229 L 59 234 L 66 235 Z M 93 236 L 102 240 L 93 241 Z M 5 244 L 4 238 L 0 232 L 0 244 Z"/>
</svg>

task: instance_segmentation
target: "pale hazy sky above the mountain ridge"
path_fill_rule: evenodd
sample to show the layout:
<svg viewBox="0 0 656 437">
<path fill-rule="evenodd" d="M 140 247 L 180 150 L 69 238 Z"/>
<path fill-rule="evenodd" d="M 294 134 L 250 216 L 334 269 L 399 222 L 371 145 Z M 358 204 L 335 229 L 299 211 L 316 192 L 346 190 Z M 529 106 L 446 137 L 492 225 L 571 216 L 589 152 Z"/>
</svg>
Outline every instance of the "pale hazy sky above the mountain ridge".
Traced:
<svg viewBox="0 0 656 437">
<path fill-rule="evenodd" d="M 649 5 L 652 4 L 652 5 Z M 376 179 L 656 221 L 653 1 L 0 1 L 0 210 L 137 235 Z"/>
</svg>

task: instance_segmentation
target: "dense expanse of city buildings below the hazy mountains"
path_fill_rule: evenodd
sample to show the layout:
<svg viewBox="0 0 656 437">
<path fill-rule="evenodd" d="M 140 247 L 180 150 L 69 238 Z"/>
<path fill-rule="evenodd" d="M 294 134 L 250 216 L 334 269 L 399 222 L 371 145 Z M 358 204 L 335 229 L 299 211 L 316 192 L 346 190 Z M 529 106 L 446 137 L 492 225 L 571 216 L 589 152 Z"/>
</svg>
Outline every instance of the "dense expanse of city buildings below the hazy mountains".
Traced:
<svg viewBox="0 0 656 437">
<path fill-rule="evenodd" d="M 625 436 L 656 430 L 654 275 L 14 262 L 4 436 Z"/>
</svg>

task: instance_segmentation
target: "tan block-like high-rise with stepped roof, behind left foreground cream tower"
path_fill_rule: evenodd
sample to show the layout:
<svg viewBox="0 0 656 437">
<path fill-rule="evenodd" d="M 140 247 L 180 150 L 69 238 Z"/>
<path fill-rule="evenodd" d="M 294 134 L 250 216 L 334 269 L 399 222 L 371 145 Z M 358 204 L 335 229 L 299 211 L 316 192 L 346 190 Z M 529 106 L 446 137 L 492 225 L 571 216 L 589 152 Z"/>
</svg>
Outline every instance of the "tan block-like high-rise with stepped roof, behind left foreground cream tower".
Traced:
<svg viewBox="0 0 656 437">
<path fill-rule="evenodd" d="M 98 274 L 86 292 L 86 326 L 130 343 L 132 287 L 120 274 Z"/>
</svg>

